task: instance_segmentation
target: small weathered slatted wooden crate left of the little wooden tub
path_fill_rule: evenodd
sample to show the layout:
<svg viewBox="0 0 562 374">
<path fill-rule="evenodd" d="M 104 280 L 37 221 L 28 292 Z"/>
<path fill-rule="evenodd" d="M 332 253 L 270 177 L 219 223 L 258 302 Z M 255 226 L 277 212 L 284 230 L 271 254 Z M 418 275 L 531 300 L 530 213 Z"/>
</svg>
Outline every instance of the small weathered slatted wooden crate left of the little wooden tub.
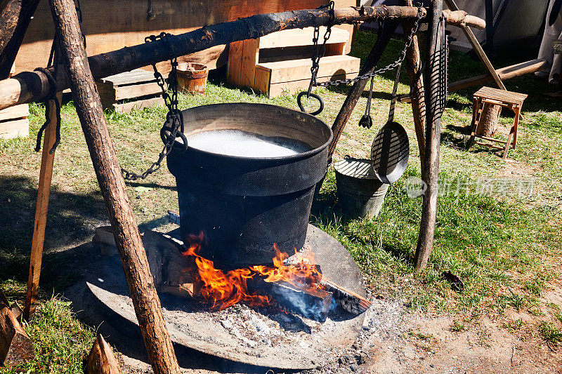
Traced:
<svg viewBox="0 0 562 374">
<path fill-rule="evenodd" d="M 162 88 L 152 72 L 134 69 L 96 81 L 103 109 L 129 113 L 133 109 L 164 105 Z"/>
</svg>

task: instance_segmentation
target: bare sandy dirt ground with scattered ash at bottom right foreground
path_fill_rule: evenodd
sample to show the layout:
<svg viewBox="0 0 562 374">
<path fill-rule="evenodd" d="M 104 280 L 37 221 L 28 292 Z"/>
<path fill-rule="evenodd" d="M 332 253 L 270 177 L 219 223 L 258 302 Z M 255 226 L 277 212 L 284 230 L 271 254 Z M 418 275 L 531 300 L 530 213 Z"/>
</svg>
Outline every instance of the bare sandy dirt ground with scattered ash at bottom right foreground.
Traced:
<svg viewBox="0 0 562 374">
<path fill-rule="evenodd" d="M 562 304 L 562 283 L 544 300 Z M 525 322 L 514 333 L 506 324 Z M 527 312 L 507 312 L 492 321 L 473 320 L 462 330 L 446 314 L 406 312 L 403 300 L 374 299 L 360 337 L 343 356 L 303 374 L 320 373 L 562 373 L 562 354 L 532 333 L 538 319 Z M 151 373 L 148 363 L 122 356 L 128 373 Z M 220 371 L 185 373 L 280 373 L 223 366 Z"/>
</svg>

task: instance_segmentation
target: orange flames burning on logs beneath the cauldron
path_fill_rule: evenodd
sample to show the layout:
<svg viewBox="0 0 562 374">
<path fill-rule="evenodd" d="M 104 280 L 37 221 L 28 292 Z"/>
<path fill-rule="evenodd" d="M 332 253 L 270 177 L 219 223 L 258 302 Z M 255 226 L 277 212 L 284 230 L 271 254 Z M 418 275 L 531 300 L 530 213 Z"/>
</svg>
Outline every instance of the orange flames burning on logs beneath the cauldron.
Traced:
<svg viewBox="0 0 562 374">
<path fill-rule="evenodd" d="M 307 251 L 306 256 L 299 263 L 287 266 L 284 261 L 289 255 L 279 251 L 274 244 L 273 267 L 252 266 L 230 270 L 225 274 L 221 269 L 214 267 L 214 262 L 197 254 L 204 243 L 203 233 L 198 236 L 191 235 L 188 242 L 188 249 L 183 255 L 195 258 L 202 283 L 201 297 L 212 304 L 211 309 L 223 310 L 237 302 L 247 303 L 251 307 L 270 305 L 269 295 L 249 292 L 247 282 L 249 279 L 254 279 L 254 276 L 259 276 L 266 282 L 286 281 L 297 287 L 322 288 L 320 286 L 322 274 L 314 265 L 311 251 Z"/>
</svg>

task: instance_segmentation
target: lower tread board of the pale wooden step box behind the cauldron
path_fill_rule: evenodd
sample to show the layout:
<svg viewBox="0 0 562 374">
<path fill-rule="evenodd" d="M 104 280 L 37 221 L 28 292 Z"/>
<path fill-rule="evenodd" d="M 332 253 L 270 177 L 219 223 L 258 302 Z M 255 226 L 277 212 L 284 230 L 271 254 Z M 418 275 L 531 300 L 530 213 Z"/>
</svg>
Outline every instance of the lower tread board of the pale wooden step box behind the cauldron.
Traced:
<svg viewBox="0 0 562 374">
<path fill-rule="evenodd" d="M 320 59 L 318 76 L 332 76 L 358 73 L 360 69 L 360 59 L 347 56 L 327 56 Z M 267 62 L 259 64 L 264 69 L 270 71 L 270 83 L 298 81 L 300 79 L 310 79 L 312 61 L 310 59 L 299 59 L 289 61 Z"/>
</svg>

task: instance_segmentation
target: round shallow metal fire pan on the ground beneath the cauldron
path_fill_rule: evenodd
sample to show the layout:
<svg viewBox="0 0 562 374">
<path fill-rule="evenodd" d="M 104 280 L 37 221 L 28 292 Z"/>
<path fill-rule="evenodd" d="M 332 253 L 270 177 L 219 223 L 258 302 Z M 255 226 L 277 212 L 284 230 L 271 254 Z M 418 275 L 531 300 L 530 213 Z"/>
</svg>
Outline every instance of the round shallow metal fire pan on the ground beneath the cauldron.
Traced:
<svg viewBox="0 0 562 374">
<path fill-rule="evenodd" d="M 315 253 L 322 274 L 341 286 L 365 296 L 365 286 L 357 264 L 341 244 L 317 227 L 308 225 L 305 247 Z M 118 330 L 138 330 L 138 322 L 129 297 L 121 264 L 115 258 L 105 258 L 93 264 L 87 286 L 98 309 L 103 309 L 105 321 Z M 164 319 L 171 340 L 223 359 L 264 368 L 304 370 L 318 368 L 348 349 L 362 328 L 365 314 L 355 316 L 338 312 L 320 328 L 303 331 L 301 338 L 275 347 L 250 347 L 233 336 L 223 324 L 201 314 L 186 311 L 185 300 L 161 295 Z M 181 304 L 181 307 L 179 307 Z"/>
</svg>

